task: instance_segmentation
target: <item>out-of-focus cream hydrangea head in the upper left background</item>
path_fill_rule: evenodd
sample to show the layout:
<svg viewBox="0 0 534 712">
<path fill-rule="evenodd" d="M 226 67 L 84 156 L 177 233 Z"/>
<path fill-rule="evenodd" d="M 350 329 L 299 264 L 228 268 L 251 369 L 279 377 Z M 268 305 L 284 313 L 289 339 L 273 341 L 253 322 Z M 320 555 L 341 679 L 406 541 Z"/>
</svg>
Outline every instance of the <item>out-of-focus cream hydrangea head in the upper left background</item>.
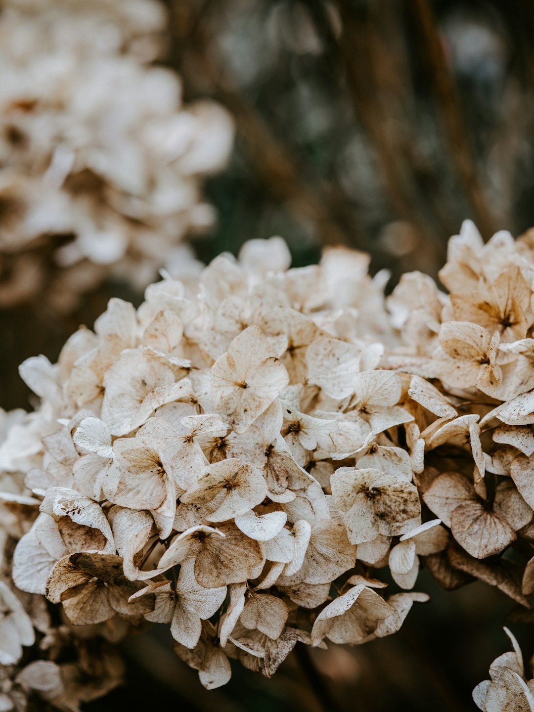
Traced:
<svg viewBox="0 0 534 712">
<path fill-rule="evenodd" d="M 231 120 L 154 65 L 165 23 L 156 0 L 2 0 L 0 305 L 71 308 L 110 275 L 145 288 L 212 223 L 201 180 Z"/>
</svg>

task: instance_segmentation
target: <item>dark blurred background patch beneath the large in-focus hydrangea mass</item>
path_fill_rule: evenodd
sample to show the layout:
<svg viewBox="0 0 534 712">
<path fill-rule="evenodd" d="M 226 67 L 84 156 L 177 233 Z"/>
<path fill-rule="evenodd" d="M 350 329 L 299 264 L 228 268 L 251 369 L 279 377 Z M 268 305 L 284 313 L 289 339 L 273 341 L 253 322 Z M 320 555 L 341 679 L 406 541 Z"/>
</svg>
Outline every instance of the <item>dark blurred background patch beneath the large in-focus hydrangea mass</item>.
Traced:
<svg viewBox="0 0 534 712">
<path fill-rule="evenodd" d="M 270 680 L 232 661 L 229 684 L 211 691 L 174 656 L 164 626 L 129 637 L 125 687 L 87 710 L 141 710 L 157 702 L 184 712 L 475 712 L 473 687 L 511 647 L 502 626 L 513 603 L 481 582 L 444 591 L 427 570 L 415 588 L 430 601 L 415 604 L 394 635 L 354 648 L 329 643 L 327 651 L 298 643 Z M 529 669 L 533 626 L 510 628 Z"/>
</svg>

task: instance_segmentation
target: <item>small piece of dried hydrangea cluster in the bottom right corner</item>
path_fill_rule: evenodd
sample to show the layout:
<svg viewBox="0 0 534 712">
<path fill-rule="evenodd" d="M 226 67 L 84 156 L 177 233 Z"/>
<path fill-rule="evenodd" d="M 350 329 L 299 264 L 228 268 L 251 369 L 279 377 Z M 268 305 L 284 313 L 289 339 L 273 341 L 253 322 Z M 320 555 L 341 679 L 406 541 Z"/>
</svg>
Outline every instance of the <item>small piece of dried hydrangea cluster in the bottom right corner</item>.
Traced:
<svg viewBox="0 0 534 712">
<path fill-rule="evenodd" d="M 513 651 L 498 656 L 490 667 L 490 679 L 473 690 L 473 700 L 482 712 L 534 712 L 534 680 L 525 678 L 518 642 L 504 629 Z M 530 663 L 532 666 L 532 661 Z"/>
</svg>

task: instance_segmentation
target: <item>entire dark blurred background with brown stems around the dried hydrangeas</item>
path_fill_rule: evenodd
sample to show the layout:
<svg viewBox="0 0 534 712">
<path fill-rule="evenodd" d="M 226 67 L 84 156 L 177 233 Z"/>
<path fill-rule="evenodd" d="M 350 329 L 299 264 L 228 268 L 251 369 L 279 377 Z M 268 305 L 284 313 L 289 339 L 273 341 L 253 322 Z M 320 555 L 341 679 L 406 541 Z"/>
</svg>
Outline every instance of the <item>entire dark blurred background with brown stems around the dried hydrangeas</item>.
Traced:
<svg viewBox="0 0 534 712">
<path fill-rule="evenodd" d="M 447 239 L 468 217 L 485 239 L 533 226 L 530 0 L 164 6 L 162 51 L 150 61 L 179 73 L 185 102 L 215 100 L 235 126 L 226 167 L 203 184 L 216 221 L 188 237 L 201 261 L 278 234 L 294 266 L 317 261 L 325 244 L 370 253 L 372 273 L 391 271 L 390 289 L 404 271 L 436 276 Z M 3 207 L 0 199 L 0 234 Z M 0 286 L 5 264 L 0 247 Z M 2 309 L 0 404 L 28 408 L 19 363 L 38 353 L 56 360 L 66 337 L 92 325 L 112 295 L 142 300 L 138 285 L 115 274 L 70 310 L 39 293 Z M 418 590 L 431 602 L 417 604 L 394 637 L 311 658 L 295 649 L 271 681 L 236 666 L 229 686 L 210 693 L 167 641 L 140 634 L 125 651 L 127 688 L 88 709 L 471 710 L 471 689 L 508 649 L 501 627 L 512 604 L 480 583 L 442 592 L 426 571 Z M 534 653 L 531 628 L 518 631 L 525 656 Z"/>
</svg>

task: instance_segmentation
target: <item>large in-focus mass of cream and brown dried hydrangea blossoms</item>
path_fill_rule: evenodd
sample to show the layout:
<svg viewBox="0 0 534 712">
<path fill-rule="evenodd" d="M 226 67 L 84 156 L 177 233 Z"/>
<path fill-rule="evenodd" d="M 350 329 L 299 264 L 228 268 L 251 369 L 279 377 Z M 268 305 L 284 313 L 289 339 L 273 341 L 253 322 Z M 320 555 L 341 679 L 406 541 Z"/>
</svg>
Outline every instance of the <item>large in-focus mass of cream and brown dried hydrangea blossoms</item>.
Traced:
<svg viewBox="0 0 534 712">
<path fill-rule="evenodd" d="M 531 619 L 533 237 L 484 245 L 466 222 L 448 295 L 412 273 L 385 298 L 345 248 L 289 265 L 281 239 L 251 241 L 21 366 L 41 402 L 6 414 L 0 446 L 16 693 L 39 691 L 22 646 L 56 666 L 58 640 L 145 620 L 207 688 L 229 659 L 270 677 L 297 642 L 396 632 L 427 599 L 420 566 Z M 86 693 L 54 669 L 56 706 Z"/>
</svg>

